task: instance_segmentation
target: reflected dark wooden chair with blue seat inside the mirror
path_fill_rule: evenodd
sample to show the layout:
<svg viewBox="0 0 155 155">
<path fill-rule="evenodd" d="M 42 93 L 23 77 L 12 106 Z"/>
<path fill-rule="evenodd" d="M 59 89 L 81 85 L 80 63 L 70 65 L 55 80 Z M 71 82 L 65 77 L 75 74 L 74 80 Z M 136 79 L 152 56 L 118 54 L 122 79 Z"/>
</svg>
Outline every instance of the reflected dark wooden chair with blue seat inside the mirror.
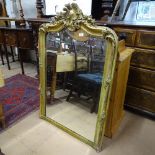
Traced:
<svg viewBox="0 0 155 155">
<path fill-rule="evenodd" d="M 102 82 L 102 71 L 93 70 L 94 63 L 92 60 L 93 49 L 86 43 L 76 45 L 74 43 L 75 52 L 75 77 L 71 86 L 67 101 L 70 97 L 74 96 L 73 92 L 76 92 L 78 97 L 84 95 L 92 98 L 93 104 L 91 105 L 90 112 L 94 112 L 99 102 L 101 82 Z M 103 63 L 102 63 L 103 66 Z M 103 68 L 102 68 L 103 69 Z"/>
</svg>

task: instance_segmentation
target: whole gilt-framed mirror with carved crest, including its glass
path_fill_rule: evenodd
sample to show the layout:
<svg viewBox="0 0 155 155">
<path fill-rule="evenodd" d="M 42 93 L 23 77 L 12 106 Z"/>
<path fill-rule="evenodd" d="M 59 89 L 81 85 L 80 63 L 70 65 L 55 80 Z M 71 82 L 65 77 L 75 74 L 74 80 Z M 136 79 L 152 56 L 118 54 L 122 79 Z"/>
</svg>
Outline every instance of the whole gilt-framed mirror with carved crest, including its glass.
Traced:
<svg viewBox="0 0 155 155">
<path fill-rule="evenodd" d="M 76 3 L 39 29 L 40 117 L 102 150 L 117 36 Z"/>
</svg>

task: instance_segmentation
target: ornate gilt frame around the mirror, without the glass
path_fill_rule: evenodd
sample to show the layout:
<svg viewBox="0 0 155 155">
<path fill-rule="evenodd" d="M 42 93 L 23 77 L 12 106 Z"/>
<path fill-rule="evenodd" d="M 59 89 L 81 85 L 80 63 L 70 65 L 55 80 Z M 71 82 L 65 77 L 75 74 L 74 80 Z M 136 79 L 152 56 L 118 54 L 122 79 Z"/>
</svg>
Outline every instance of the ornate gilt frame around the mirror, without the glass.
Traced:
<svg viewBox="0 0 155 155">
<path fill-rule="evenodd" d="M 96 132 L 94 142 L 85 137 L 73 132 L 67 127 L 58 122 L 46 117 L 45 103 L 46 103 L 46 48 L 45 37 L 48 32 L 58 32 L 67 28 L 70 31 L 83 30 L 91 36 L 103 37 L 106 40 L 106 57 L 104 65 L 104 78 L 102 80 L 101 95 L 99 101 L 99 110 L 96 123 Z M 103 137 L 106 124 L 106 113 L 108 111 L 108 104 L 113 82 L 116 58 L 117 58 L 118 39 L 113 30 L 107 27 L 99 27 L 95 25 L 94 20 L 83 15 L 76 3 L 67 4 L 63 12 L 58 14 L 51 23 L 43 24 L 39 29 L 39 55 L 40 55 L 40 117 L 51 124 L 61 128 L 70 135 L 79 140 L 89 144 L 98 151 L 102 150 Z"/>
</svg>

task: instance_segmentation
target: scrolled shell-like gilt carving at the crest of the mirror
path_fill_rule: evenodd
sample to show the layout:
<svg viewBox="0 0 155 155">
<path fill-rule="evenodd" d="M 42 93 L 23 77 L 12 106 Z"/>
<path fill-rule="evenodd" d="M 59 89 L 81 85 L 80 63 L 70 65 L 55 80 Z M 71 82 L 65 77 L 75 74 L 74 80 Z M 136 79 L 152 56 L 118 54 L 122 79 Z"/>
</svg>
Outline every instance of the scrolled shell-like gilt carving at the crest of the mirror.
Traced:
<svg viewBox="0 0 155 155">
<path fill-rule="evenodd" d="M 57 16 L 55 16 L 54 23 L 62 22 L 70 31 L 80 29 L 81 23 L 86 23 L 90 26 L 95 25 L 95 21 L 92 17 L 84 15 L 76 3 L 66 4 L 63 12 L 60 12 Z"/>
</svg>

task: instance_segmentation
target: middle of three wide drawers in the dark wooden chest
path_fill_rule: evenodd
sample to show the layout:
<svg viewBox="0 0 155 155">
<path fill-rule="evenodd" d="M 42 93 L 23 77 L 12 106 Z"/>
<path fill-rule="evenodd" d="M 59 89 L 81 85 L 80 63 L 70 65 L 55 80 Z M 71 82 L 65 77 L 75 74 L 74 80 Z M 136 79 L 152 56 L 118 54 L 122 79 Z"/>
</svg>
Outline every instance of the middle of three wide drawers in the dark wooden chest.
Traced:
<svg viewBox="0 0 155 155">
<path fill-rule="evenodd" d="M 155 91 L 155 71 L 130 67 L 128 83 L 132 86 Z"/>
</svg>

